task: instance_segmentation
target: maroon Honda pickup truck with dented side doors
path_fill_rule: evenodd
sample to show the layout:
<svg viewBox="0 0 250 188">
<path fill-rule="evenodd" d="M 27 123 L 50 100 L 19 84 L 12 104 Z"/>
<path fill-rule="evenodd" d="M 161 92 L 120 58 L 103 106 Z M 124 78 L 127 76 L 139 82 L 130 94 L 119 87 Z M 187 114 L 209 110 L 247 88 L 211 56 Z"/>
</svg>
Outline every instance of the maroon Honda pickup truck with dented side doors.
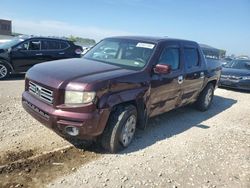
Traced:
<svg viewBox="0 0 250 188">
<path fill-rule="evenodd" d="M 150 117 L 190 103 L 206 111 L 220 72 L 208 68 L 196 42 L 113 37 L 82 59 L 32 67 L 22 104 L 65 139 L 99 140 L 117 152 Z"/>
</svg>

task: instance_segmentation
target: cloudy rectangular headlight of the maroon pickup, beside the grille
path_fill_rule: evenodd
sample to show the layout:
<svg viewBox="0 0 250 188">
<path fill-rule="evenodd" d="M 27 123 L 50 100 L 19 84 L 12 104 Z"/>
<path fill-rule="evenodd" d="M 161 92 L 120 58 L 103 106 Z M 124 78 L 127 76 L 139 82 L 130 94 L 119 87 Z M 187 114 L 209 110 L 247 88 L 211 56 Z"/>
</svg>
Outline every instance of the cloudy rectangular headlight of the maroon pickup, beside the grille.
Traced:
<svg viewBox="0 0 250 188">
<path fill-rule="evenodd" d="M 64 104 L 87 104 L 95 99 L 95 92 L 65 91 Z"/>
</svg>

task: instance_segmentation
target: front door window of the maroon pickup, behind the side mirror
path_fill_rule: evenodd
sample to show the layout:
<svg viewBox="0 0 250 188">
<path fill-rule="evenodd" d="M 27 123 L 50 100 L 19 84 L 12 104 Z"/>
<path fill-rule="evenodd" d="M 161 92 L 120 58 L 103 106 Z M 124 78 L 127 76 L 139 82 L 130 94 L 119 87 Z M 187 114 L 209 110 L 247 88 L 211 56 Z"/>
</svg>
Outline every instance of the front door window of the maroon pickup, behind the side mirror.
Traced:
<svg viewBox="0 0 250 188">
<path fill-rule="evenodd" d="M 166 47 L 163 49 L 161 56 L 159 58 L 158 64 L 170 65 L 172 70 L 179 69 L 180 65 L 180 54 L 178 48 Z"/>
</svg>

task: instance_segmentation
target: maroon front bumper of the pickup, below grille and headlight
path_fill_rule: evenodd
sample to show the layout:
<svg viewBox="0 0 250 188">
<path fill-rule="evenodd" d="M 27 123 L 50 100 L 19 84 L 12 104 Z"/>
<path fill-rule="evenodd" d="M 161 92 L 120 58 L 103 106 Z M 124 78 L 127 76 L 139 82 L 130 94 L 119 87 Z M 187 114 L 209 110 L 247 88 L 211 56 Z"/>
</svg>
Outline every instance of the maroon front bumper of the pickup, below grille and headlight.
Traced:
<svg viewBox="0 0 250 188">
<path fill-rule="evenodd" d="M 109 109 L 97 109 L 91 113 L 55 109 L 27 91 L 22 95 L 22 105 L 36 120 L 65 138 L 72 137 L 65 131 L 67 126 L 78 128 L 79 134 L 74 136 L 77 139 L 89 140 L 102 134 L 110 113 Z"/>
</svg>

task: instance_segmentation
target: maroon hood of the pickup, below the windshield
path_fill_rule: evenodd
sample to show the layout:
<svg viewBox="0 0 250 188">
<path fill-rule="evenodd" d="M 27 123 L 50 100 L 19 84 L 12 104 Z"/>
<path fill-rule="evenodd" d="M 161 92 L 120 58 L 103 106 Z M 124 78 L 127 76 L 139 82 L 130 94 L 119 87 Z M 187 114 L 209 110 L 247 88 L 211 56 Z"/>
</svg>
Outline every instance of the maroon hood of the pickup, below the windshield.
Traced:
<svg viewBox="0 0 250 188">
<path fill-rule="evenodd" d="M 35 65 L 27 72 L 26 77 L 52 88 L 65 88 L 70 82 L 88 84 L 131 72 L 134 71 L 99 61 L 75 58 Z"/>
</svg>

